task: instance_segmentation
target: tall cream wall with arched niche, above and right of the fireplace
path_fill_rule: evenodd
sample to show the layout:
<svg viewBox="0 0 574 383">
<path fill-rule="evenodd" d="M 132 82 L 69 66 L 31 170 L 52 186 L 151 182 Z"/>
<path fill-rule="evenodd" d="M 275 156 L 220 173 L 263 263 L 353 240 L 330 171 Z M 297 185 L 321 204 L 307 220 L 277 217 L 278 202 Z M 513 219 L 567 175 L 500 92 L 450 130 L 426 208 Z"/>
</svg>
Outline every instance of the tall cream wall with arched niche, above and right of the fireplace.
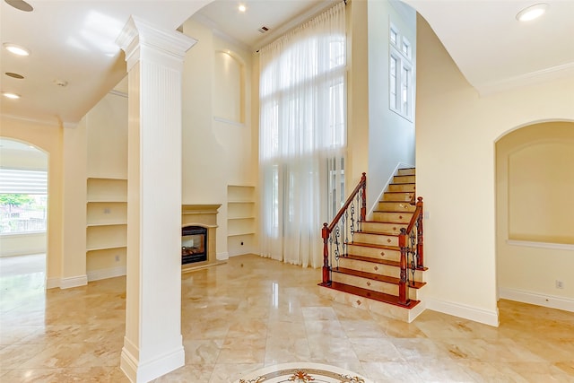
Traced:
<svg viewBox="0 0 574 383">
<path fill-rule="evenodd" d="M 222 204 L 217 254 L 226 258 L 237 253 L 228 251 L 227 186 L 257 185 L 252 55 L 194 18 L 184 23 L 183 32 L 198 42 L 187 51 L 184 63 L 182 203 Z M 222 95 L 225 92 L 229 94 Z"/>
</svg>

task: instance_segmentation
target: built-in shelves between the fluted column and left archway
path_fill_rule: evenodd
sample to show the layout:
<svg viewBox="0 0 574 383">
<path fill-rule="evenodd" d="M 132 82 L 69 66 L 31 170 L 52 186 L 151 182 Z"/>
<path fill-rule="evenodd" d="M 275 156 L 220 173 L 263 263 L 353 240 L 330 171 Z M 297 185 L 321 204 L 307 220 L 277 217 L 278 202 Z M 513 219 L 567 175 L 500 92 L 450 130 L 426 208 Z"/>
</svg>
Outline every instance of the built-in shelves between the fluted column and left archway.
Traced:
<svg viewBox="0 0 574 383">
<path fill-rule="evenodd" d="M 98 258 L 125 259 L 127 247 L 127 180 L 88 178 L 86 253 L 88 262 Z M 100 259 L 101 262 L 104 259 Z M 108 259 L 106 259 L 108 261 Z"/>
</svg>

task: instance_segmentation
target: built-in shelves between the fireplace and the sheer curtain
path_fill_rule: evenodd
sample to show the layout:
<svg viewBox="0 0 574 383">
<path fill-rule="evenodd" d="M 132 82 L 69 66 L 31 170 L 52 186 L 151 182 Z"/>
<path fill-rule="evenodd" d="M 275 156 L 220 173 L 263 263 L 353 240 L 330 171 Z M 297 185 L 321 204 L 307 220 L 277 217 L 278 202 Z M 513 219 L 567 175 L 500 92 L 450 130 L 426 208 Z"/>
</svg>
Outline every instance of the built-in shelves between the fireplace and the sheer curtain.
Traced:
<svg viewBox="0 0 574 383">
<path fill-rule="evenodd" d="M 230 256 L 253 251 L 256 233 L 255 187 L 227 187 L 227 248 Z"/>
</svg>

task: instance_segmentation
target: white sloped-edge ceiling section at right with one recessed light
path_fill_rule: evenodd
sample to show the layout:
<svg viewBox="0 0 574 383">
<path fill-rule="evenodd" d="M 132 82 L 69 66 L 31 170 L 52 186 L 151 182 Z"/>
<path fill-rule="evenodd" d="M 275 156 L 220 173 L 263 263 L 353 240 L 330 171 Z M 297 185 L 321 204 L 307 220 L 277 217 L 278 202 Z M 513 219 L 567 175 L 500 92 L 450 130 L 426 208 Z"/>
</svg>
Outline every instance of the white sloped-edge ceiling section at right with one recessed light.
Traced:
<svg viewBox="0 0 574 383">
<path fill-rule="evenodd" d="M 429 22 L 466 80 L 479 92 L 574 75 L 572 0 L 404 0 Z M 517 22 L 546 3 L 540 19 Z M 573 90 L 574 91 L 574 90 Z"/>
</svg>

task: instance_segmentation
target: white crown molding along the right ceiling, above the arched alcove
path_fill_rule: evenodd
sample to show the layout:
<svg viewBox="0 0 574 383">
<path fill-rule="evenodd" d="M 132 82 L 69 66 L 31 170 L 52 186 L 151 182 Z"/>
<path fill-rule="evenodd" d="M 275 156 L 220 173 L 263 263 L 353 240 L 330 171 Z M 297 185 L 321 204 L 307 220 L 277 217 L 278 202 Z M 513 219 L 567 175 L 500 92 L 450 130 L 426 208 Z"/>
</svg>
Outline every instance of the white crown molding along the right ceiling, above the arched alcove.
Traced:
<svg viewBox="0 0 574 383">
<path fill-rule="evenodd" d="M 520 74 L 491 83 L 478 84 L 475 88 L 481 96 L 488 96 L 500 91 L 509 91 L 514 88 L 533 85 L 536 83 L 544 83 L 546 81 L 552 81 L 572 75 L 574 75 L 574 63 L 567 63 L 527 74 Z"/>
</svg>

